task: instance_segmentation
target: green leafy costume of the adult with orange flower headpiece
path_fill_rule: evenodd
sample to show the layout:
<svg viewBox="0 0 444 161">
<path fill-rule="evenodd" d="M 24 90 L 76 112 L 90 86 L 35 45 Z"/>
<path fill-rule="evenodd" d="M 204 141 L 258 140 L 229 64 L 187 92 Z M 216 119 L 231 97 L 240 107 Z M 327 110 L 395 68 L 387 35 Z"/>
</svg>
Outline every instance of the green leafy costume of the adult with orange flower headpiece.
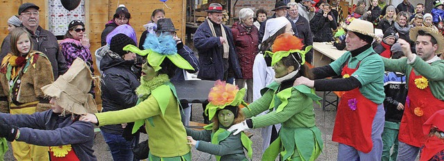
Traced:
<svg viewBox="0 0 444 161">
<path fill-rule="evenodd" d="M 282 89 L 273 82 L 262 89 L 262 97 L 249 105 L 251 111 L 242 112 L 251 117 L 253 128 L 282 124 L 279 138 L 266 149 L 262 160 L 275 160 L 280 151 L 282 160 L 315 160 L 321 154 L 323 141 L 316 127 L 313 101 L 321 100 L 307 86 Z M 271 109 L 266 115 L 253 117 Z M 307 141 L 312 140 L 312 141 Z"/>
</svg>

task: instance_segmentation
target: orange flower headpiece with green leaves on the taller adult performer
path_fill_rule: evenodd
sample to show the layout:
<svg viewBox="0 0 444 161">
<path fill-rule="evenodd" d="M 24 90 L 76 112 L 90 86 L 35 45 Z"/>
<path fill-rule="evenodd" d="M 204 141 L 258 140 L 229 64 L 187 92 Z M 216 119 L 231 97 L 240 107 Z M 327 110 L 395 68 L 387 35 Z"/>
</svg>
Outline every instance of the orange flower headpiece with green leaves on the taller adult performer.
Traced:
<svg viewBox="0 0 444 161">
<path fill-rule="evenodd" d="M 284 33 L 276 37 L 273 46 L 273 52 L 266 51 L 265 53 L 271 56 L 271 65 L 273 66 L 283 57 L 288 57 L 291 53 L 298 53 L 302 58 L 302 63 L 305 64 L 305 53 L 307 53 L 313 46 L 307 46 L 302 50 L 304 44 L 302 41 L 289 33 Z"/>
</svg>

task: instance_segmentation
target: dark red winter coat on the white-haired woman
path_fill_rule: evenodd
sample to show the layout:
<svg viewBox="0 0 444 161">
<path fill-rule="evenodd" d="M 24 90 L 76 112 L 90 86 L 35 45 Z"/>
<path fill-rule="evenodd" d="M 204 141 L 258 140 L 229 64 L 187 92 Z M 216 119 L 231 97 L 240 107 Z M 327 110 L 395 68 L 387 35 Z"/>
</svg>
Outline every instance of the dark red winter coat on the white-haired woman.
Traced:
<svg viewBox="0 0 444 161">
<path fill-rule="evenodd" d="M 242 77 L 244 79 L 251 79 L 253 78 L 253 61 L 255 61 L 259 50 L 257 48 L 259 44 L 256 41 L 259 30 L 252 26 L 250 32 L 248 32 L 243 25 L 234 23 L 231 32 L 233 33 L 234 46 L 236 47 L 239 65 L 241 66 Z"/>
</svg>

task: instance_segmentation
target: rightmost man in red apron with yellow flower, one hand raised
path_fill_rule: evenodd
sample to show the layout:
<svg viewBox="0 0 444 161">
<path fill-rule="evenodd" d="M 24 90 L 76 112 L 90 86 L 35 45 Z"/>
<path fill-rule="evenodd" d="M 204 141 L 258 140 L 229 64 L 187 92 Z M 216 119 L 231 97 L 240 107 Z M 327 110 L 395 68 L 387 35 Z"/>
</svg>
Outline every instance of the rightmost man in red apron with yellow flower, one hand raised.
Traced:
<svg viewBox="0 0 444 161">
<path fill-rule="evenodd" d="M 388 71 L 406 74 L 407 100 L 404 105 L 397 160 L 415 160 L 427 135 L 422 133 L 422 124 L 436 111 L 444 109 L 444 61 L 436 56 L 444 53 L 444 37 L 427 27 L 410 30 L 410 39 L 415 41 L 416 54 L 411 53 L 410 45 L 398 40 L 406 57 L 383 59 Z"/>
</svg>

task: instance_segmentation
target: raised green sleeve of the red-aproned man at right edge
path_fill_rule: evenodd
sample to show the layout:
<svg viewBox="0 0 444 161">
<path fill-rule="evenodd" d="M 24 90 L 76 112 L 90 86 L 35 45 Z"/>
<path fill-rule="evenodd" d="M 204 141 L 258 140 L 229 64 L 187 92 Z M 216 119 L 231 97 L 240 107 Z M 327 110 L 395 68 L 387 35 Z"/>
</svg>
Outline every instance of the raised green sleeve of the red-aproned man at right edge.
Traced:
<svg viewBox="0 0 444 161">
<path fill-rule="evenodd" d="M 443 81 L 444 80 L 444 61 L 438 60 L 432 63 L 432 66 L 426 63 L 420 57 L 416 56 L 415 61 L 410 64 L 416 72 L 429 81 Z"/>
</svg>

